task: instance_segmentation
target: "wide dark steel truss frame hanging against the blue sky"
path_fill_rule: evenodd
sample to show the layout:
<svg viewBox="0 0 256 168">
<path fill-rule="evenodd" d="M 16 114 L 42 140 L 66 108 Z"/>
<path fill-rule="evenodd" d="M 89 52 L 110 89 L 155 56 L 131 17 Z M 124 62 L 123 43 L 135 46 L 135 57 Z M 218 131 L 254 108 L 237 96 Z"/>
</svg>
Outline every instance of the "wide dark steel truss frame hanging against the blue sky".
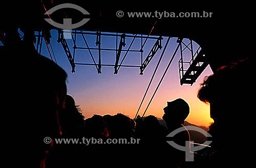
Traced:
<svg viewBox="0 0 256 168">
<path fill-rule="evenodd" d="M 63 34 L 64 33 L 71 33 L 71 37 L 72 37 L 72 41 L 73 41 L 73 55 L 70 51 L 70 48 L 68 46 L 68 43 L 66 41 L 65 38 L 63 38 Z M 84 41 L 84 43 L 86 44 L 86 46 L 77 46 L 76 45 L 76 39 L 77 36 L 80 35 L 82 36 L 82 39 Z M 95 35 L 96 36 L 96 46 L 95 48 L 93 47 L 89 47 L 88 42 L 86 40 L 85 35 Z M 116 37 L 116 48 L 101 48 L 101 37 L 102 36 L 112 36 L 112 37 Z M 132 42 L 130 43 L 128 49 L 123 49 L 123 47 L 126 45 L 125 43 L 125 39 L 126 38 L 133 38 Z M 135 39 L 141 39 L 141 47 L 139 50 L 132 50 L 131 47 L 135 41 Z M 119 44 L 118 44 L 118 39 L 119 40 Z M 143 39 L 144 42 L 143 42 Z M 152 49 L 150 50 L 150 52 L 147 54 L 145 60 L 143 61 L 143 47 L 147 41 L 147 39 L 154 39 L 156 40 L 155 44 L 153 45 Z M 101 67 L 102 66 L 113 66 L 114 67 L 114 74 L 118 73 L 118 70 L 120 69 L 120 67 L 135 67 L 135 68 L 140 68 L 140 75 L 143 74 L 143 71 L 145 70 L 145 68 L 147 67 L 147 65 L 151 62 L 151 60 L 153 59 L 154 55 L 157 53 L 157 51 L 159 49 L 162 48 L 162 40 L 163 38 L 161 36 L 159 37 L 151 37 L 151 36 L 143 36 L 143 35 L 126 35 L 126 34 L 110 34 L 110 33 L 102 33 L 102 32 L 85 32 L 85 31 L 72 31 L 72 32 L 68 32 L 68 31 L 59 31 L 58 32 L 58 42 L 61 43 L 63 49 L 65 50 L 65 53 L 67 55 L 67 58 L 70 62 L 70 65 L 72 67 L 72 72 L 75 72 L 75 66 L 76 65 L 93 65 L 96 67 L 97 72 L 100 74 L 101 73 Z M 90 63 L 76 63 L 75 62 L 75 51 L 76 49 L 86 49 L 89 51 L 90 56 L 92 58 L 93 64 Z M 98 63 L 96 63 L 95 59 L 94 59 L 94 55 L 92 54 L 92 50 L 98 50 Z M 116 52 L 116 61 L 115 64 L 102 64 L 101 63 L 101 51 L 102 50 L 106 50 L 106 51 L 115 51 Z M 125 54 L 123 55 L 123 59 L 120 61 L 120 57 L 121 57 L 121 52 L 125 51 Z M 129 52 L 140 52 L 141 55 L 141 65 L 122 65 L 127 53 Z"/>
</svg>

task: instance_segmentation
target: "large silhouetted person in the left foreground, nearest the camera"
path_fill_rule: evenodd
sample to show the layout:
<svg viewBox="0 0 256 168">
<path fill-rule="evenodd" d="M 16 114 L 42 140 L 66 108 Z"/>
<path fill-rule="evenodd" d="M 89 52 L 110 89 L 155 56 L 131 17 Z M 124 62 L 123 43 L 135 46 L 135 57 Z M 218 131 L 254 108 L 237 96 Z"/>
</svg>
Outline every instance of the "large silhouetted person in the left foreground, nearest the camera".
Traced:
<svg viewBox="0 0 256 168">
<path fill-rule="evenodd" d="M 38 164 L 44 166 L 48 165 L 50 155 L 55 150 L 54 141 L 46 144 L 43 141 L 44 138 L 58 138 L 62 133 L 59 111 L 65 104 L 67 73 L 53 61 L 41 55 L 34 55 L 32 60 L 33 75 L 31 74 L 25 82 L 30 86 L 26 94 L 29 96 L 26 103 L 32 105 L 33 111 L 30 111 L 31 107 L 24 110 L 26 118 L 23 120 L 23 125 L 29 124 L 25 130 L 33 137 L 30 138 L 28 147 L 36 150 L 33 155 L 38 154 Z"/>
</svg>

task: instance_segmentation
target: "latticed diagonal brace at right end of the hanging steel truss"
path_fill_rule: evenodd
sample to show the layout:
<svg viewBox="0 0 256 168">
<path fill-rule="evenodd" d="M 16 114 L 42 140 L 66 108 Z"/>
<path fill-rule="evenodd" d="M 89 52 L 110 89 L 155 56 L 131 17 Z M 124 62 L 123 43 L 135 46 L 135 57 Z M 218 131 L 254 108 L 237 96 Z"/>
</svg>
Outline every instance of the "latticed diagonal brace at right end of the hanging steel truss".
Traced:
<svg viewBox="0 0 256 168">
<path fill-rule="evenodd" d="M 140 75 L 143 75 L 143 71 L 145 70 L 146 66 L 150 63 L 150 61 L 153 59 L 154 55 L 158 51 L 158 49 L 162 48 L 162 37 L 160 36 L 154 46 L 152 47 L 150 53 L 148 53 L 145 61 L 143 62 L 142 66 L 140 67 Z"/>
</svg>

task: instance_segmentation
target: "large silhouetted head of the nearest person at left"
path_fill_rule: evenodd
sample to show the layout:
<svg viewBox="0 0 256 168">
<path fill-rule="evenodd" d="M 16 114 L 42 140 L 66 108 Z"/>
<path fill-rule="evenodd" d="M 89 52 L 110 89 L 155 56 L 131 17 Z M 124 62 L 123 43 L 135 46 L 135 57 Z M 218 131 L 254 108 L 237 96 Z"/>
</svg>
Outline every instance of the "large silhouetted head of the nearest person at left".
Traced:
<svg viewBox="0 0 256 168">
<path fill-rule="evenodd" d="M 37 90 L 36 96 L 33 98 L 37 101 L 39 119 L 44 123 L 41 124 L 41 131 L 46 131 L 45 133 L 48 134 L 48 131 L 50 131 L 52 135 L 57 135 L 61 132 L 58 123 L 58 111 L 65 105 L 67 73 L 46 57 L 38 56 L 35 64 L 36 69 L 34 69 L 34 72 L 36 75 L 33 76 L 33 79 Z"/>
</svg>

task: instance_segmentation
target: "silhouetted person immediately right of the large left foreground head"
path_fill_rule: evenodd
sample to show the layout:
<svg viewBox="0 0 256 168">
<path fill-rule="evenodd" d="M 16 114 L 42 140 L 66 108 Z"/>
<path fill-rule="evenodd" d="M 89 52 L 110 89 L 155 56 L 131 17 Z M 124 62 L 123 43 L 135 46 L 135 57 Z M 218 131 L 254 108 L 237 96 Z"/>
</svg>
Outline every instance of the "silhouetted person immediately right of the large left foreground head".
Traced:
<svg viewBox="0 0 256 168">
<path fill-rule="evenodd" d="M 61 126 L 61 138 L 82 139 L 84 136 L 83 124 L 84 117 L 79 112 L 78 106 L 75 105 L 75 100 L 66 95 L 64 108 L 59 113 L 59 123 Z M 56 144 L 55 153 L 51 154 L 51 167 L 66 167 L 68 163 L 72 166 L 80 166 L 85 149 L 81 144 Z M 76 165 L 74 165 L 74 163 Z"/>
</svg>

